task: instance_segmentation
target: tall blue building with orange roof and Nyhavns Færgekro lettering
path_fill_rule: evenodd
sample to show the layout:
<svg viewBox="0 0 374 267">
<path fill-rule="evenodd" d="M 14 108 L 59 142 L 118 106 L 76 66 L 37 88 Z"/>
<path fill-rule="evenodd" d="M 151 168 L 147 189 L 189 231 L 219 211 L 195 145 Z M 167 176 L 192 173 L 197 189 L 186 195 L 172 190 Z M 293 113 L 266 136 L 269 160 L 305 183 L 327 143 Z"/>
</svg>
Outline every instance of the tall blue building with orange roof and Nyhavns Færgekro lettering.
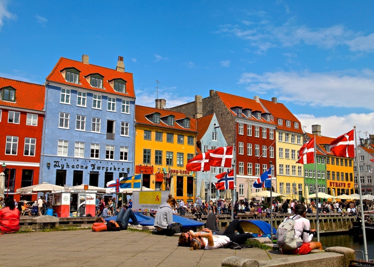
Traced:
<svg viewBox="0 0 374 267">
<path fill-rule="evenodd" d="M 40 182 L 106 187 L 134 173 L 132 73 L 61 57 L 46 78 Z"/>
</svg>

